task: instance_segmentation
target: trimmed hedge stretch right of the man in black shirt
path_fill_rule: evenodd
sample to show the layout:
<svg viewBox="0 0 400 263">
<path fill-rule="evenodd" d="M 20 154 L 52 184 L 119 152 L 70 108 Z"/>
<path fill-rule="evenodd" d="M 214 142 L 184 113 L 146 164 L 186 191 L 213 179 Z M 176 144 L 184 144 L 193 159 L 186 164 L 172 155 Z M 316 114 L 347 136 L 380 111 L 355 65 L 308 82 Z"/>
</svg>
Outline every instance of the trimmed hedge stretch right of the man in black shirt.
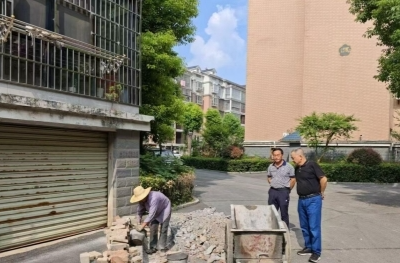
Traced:
<svg viewBox="0 0 400 263">
<path fill-rule="evenodd" d="M 320 164 L 322 170 L 331 182 L 400 182 L 400 165 L 384 163 L 374 166 L 364 166 L 353 163 Z"/>
</svg>

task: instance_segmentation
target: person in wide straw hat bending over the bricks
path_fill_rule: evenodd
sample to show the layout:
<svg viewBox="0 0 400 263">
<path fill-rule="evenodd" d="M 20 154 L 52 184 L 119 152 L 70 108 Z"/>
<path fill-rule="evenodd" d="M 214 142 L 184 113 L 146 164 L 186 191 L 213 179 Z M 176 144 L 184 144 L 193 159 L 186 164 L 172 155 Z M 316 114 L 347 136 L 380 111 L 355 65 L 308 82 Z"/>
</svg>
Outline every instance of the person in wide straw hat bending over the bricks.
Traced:
<svg viewBox="0 0 400 263">
<path fill-rule="evenodd" d="M 139 217 L 139 231 L 150 225 L 150 249 L 148 254 L 157 250 L 165 252 L 167 248 L 167 235 L 169 221 L 171 219 L 171 201 L 163 193 L 151 191 L 151 187 L 144 189 L 138 186 L 133 190 L 131 203 L 139 202 L 137 214 Z M 144 212 L 149 215 L 143 221 Z M 161 224 L 160 239 L 158 239 L 158 226 Z"/>
</svg>

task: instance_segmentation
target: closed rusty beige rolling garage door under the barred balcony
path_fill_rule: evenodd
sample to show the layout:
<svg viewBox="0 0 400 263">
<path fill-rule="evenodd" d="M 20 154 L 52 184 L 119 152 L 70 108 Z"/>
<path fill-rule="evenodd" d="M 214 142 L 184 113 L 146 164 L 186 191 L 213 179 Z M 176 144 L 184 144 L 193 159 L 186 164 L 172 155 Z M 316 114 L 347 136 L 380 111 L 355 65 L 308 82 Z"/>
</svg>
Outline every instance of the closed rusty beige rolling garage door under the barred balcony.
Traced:
<svg viewBox="0 0 400 263">
<path fill-rule="evenodd" d="M 107 224 L 107 134 L 0 124 L 0 251 Z"/>
</svg>

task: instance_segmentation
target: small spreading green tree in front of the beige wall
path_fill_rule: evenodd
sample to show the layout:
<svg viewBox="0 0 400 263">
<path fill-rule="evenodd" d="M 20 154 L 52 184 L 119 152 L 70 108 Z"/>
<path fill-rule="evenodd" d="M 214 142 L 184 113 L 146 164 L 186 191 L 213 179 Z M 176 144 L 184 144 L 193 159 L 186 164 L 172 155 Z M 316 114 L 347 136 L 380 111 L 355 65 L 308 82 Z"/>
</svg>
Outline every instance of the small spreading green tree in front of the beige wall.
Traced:
<svg viewBox="0 0 400 263">
<path fill-rule="evenodd" d="M 311 115 L 299 119 L 296 130 L 307 140 L 308 146 L 315 149 L 318 162 L 320 162 L 333 140 L 351 137 L 351 133 L 357 130 L 354 125 L 356 121 L 358 120 L 353 115 L 346 116 L 332 112 L 317 114 L 313 112 Z M 323 149 L 318 156 L 318 147 L 321 144 Z"/>
</svg>

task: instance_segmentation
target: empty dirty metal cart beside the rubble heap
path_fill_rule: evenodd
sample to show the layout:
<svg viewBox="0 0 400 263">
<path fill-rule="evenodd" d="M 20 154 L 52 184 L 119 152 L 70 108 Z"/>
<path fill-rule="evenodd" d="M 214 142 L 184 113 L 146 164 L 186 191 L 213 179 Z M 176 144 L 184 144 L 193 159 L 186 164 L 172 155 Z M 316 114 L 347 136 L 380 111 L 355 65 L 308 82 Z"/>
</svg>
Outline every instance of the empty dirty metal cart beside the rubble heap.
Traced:
<svg viewBox="0 0 400 263">
<path fill-rule="evenodd" d="M 289 229 L 273 205 L 231 205 L 227 263 L 290 263 Z"/>
</svg>

